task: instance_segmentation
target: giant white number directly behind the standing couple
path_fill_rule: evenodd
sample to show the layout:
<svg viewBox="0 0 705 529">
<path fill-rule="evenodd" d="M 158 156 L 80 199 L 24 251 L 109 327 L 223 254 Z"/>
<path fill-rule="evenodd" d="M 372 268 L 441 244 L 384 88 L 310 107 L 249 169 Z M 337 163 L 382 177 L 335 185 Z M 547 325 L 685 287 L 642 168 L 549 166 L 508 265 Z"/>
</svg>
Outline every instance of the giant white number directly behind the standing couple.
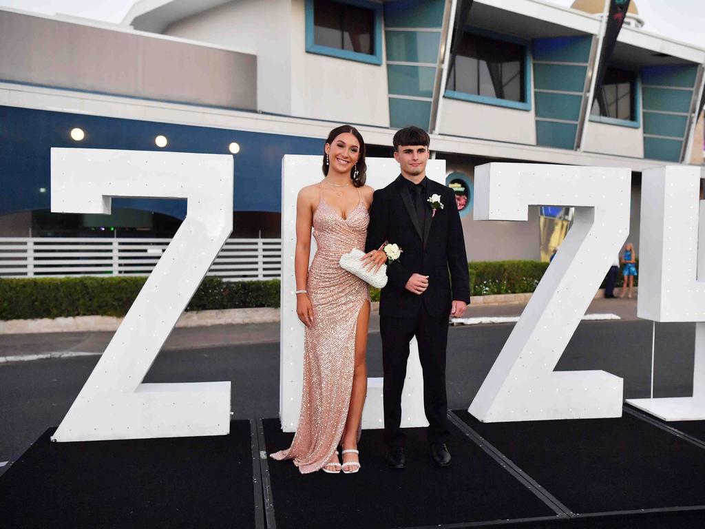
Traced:
<svg viewBox="0 0 705 529">
<path fill-rule="evenodd" d="M 399 175 L 399 164 L 391 158 L 366 158 L 367 184 L 383 188 Z M 303 384 L 304 325 L 296 315 L 294 278 L 294 251 L 296 245 L 296 197 L 304 186 L 321 181 L 321 157 L 287 154 L 282 161 L 281 184 L 281 367 L 279 381 L 279 417 L 285 432 L 295 432 L 301 407 Z M 426 174 L 432 180 L 445 184 L 445 160 L 429 160 Z M 405 213 L 404 213 L 405 214 Z M 393 241 L 392 241 L 393 242 Z M 311 240 L 311 255 L 316 252 L 316 241 Z M 315 308 L 314 308 L 315 310 Z M 416 339 L 410 345 L 409 363 L 402 396 L 402 426 L 427 426 L 424 415 L 423 378 Z M 382 379 L 369 378 L 367 399 L 362 412 L 362 427 L 384 427 L 382 408 Z"/>
</svg>

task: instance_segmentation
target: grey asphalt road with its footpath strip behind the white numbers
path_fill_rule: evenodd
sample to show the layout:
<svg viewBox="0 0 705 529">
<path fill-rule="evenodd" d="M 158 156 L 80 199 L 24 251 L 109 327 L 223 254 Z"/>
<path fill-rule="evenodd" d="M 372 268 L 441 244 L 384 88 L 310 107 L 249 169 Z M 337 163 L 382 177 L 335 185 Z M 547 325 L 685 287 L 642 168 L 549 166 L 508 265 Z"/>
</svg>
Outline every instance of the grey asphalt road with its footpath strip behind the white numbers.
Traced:
<svg viewBox="0 0 705 529">
<path fill-rule="evenodd" d="M 523 305 L 485 305 L 471 316 L 519 315 Z M 649 396 L 651 322 L 637 320 L 634 300 L 596 300 L 589 314 L 621 320 L 581 322 L 556 370 L 606 370 L 623 377 L 625 397 Z M 382 375 L 379 318 L 372 317 L 367 364 Z M 448 335 L 448 404 L 467 408 L 513 324 L 451 327 Z M 75 351 L 93 355 L 0 364 L 0 473 L 48 427 L 59 425 L 112 333 L 0 336 L 0 356 Z M 145 382 L 232 383 L 233 418 L 278 415 L 278 324 L 176 329 Z M 694 324 L 656 324 L 655 396 L 692 394 Z"/>
</svg>

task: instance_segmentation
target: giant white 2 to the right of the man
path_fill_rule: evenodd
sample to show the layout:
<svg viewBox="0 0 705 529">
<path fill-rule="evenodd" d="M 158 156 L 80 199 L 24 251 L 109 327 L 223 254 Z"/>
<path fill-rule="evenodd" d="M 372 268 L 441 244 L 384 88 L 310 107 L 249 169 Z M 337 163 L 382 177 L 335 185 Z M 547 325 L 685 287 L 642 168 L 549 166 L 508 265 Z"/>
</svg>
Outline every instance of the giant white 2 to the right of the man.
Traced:
<svg viewBox="0 0 705 529">
<path fill-rule="evenodd" d="M 529 205 L 575 206 L 575 221 L 469 411 L 483 422 L 619 417 L 621 378 L 553 368 L 627 236 L 630 170 L 475 169 L 474 219 L 525 221 Z"/>
</svg>

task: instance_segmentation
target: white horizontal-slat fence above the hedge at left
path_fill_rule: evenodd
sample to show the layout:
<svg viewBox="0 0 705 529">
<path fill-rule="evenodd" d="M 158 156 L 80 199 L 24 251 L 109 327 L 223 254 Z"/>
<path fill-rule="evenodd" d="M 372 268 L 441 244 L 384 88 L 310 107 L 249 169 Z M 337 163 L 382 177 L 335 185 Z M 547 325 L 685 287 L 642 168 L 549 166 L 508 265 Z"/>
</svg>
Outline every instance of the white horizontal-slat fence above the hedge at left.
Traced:
<svg viewBox="0 0 705 529">
<path fill-rule="evenodd" d="M 146 276 L 168 238 L 0 238 L 0 277 Z M 208 270 L 224 281 L 279 279 L 281 239 L 228 239 Z"/>
</svg>

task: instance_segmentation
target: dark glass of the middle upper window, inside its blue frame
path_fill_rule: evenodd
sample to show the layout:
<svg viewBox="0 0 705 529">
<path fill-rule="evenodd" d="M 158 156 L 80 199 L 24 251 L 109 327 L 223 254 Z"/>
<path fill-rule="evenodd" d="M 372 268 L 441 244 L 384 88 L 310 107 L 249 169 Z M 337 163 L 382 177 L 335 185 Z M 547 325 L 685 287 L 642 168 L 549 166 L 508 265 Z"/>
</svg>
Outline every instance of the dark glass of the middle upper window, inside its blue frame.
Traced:
<svg viewBox="0 0 705 529">
<path fill-rule="evenodd" d="M 465 33 L 448 90 L 525 102 L 525 54 L 520 44 Z"/>
</svg>

